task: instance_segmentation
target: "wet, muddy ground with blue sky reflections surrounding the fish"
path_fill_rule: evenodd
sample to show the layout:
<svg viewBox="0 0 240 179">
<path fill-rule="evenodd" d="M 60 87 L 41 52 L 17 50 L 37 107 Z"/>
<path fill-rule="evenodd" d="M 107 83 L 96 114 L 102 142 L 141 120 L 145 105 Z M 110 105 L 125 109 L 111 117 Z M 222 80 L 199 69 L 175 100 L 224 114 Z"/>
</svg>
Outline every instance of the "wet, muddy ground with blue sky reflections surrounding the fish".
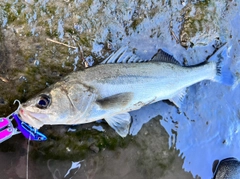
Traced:
<svg viewBox="0 0 240 179">
<path fill-rule="evenodd" d="M 237 1 L 3 0 L 0 7 L 1 116 L 16 109 L 15 99 L 24 102 L 126 45 L 142 59 L 163 48 L 192 65 L 227 42 L 231 70 L 239 76 Z M 165 102 L 132 112 L 124 139 L 105 123 L 44 126 L 48 141 L 42 143 L 14 136 L 0 144 L 0 174 L 14 179 L 211 178 L 214 160 L 240 158 L 235 87 L 196 84 L 188 89 L 180 114 Z M 92 129 L 99 125 L 104 132 Z"/>
</svg>

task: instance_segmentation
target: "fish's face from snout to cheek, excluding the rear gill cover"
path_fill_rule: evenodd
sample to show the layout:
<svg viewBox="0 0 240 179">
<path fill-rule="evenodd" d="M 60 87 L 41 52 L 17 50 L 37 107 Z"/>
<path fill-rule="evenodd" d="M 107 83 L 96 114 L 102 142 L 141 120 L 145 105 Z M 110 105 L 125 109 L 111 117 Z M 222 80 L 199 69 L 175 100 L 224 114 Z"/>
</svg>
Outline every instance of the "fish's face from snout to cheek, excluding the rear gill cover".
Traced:
<svg viewBox="0 0 240 179">
<path fill-rule="evenodd" d="M 44 124 L 64 124 L 74 110 L 70 100 L 66 91 L 53 88 L 21 104 L 18 113 L 24 122 L 37 129 Z"/>
</svg>

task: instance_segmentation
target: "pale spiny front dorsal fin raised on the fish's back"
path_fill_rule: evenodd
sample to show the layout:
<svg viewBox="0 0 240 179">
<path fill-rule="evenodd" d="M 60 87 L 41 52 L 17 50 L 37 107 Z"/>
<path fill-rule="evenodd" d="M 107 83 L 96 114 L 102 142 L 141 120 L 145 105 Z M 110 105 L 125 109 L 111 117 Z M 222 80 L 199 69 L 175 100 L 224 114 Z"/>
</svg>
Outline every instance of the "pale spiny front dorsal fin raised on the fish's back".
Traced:
<svg viewBox="0 0 240 179">
<path fill-rule="evenodd" d="M 121 47 L 116 52 L 113 52 L 101 64 L 107 63 L 138 63 L 145 62 L 146 60 L 140 59 L 138 56 L 128 51 L 128 47 Z"/>
</svg>

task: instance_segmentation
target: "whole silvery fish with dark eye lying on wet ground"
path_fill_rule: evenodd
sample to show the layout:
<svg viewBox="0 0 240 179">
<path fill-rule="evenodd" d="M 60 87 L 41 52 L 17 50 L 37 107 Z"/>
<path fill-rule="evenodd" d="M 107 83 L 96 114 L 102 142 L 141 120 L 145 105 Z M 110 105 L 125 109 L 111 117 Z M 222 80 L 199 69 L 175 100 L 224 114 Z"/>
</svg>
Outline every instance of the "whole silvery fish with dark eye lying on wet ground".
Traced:
<svg viewBox="0 0 240 179">
<path fill-rule="evenodd" d="M 183 66 L 173 55 L 159 49 L 142 60 L 122 47 L 101 64 L 72 72 L 40 94 L 20 104 L 24 122 L 39 129 L 43 125 L 75 125 L 105 121 L 126 137 L 130 111 L 161 100 L 180 106 L 186 87 L 203 80 L 232 85 L 234 76 L 226 45 L 209 60 Z"/>
</svg>

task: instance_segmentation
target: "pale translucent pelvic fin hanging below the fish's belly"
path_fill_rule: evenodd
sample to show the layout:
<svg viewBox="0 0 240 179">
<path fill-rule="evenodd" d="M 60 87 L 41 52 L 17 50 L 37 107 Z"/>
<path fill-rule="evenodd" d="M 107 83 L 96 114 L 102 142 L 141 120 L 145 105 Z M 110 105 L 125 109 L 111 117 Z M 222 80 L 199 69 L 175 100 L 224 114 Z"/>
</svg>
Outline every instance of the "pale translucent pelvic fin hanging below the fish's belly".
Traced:
<svg viewBox="0 0 240 179">
<path fill-rule="evenodd" d="M 105 118 L 105 120 L 121 137 L 127 136 L 131 123 L 131 116 L 129 113 L 111 116 Z"/>
</svg>

